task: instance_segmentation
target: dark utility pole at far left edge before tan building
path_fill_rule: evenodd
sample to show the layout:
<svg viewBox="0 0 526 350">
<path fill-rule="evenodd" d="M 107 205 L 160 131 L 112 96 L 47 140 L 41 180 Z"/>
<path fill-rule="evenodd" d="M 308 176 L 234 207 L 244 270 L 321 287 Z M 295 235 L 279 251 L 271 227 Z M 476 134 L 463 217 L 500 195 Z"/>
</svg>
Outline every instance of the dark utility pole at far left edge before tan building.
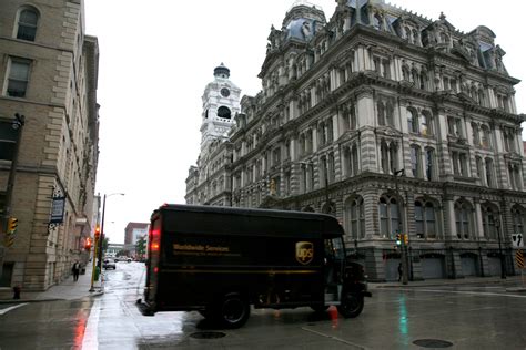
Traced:
<svg viewBox="0 0 526 350">
<path fill-rule="evenodd" d="M 22 140 L 22 130 L 26 124 L 26 116 L 14 113 L 14 120 L 11 123 L 11 127 L 14 131 L 14 148 L 11 158 L 11 168 L 9 171 L 8 186 L 6 189 L 6 203 L 3 206 L 3 213 L 0 216 L 0 277 L 3 275 L 3 256 L 6 251 L 4 239 L 7 235 L 8 219 L 11 216 L 11 202 L 14 188 L 14 177 L 17 175 L 18 154 L 20 150 L 20 141 Z"/>
</svg>

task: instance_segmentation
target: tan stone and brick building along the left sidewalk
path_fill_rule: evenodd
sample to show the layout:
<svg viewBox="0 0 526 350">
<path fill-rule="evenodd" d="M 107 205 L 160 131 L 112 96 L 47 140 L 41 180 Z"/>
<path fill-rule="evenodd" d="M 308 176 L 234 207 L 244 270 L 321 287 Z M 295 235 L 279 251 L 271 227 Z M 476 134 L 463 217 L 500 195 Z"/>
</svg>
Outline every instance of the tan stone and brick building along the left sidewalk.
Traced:
<svg viewBox="0 0 526 350">
<path fill-rule="evenodd" d="M 3 287 L 47 289 L 71 274 L 75 259 L 88 260 L 84 240 L 99 205 L 98 65 L 81 0 L 1 1 L 0 119 L 9 130 L 16 113 L 26 116 L 10 200 L 19 225 L 3 256 Z M 2 209 L 11 166 L 0 161 Z"/>
</svg>

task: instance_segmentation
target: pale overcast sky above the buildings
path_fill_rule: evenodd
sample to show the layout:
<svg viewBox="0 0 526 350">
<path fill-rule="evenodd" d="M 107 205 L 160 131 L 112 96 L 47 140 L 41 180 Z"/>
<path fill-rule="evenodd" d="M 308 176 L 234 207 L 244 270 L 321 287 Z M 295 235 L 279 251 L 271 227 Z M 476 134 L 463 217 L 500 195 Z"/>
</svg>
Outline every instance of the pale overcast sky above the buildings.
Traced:
<svg viewBox="0 0 526 350">
<path fill-rule="evenodd" d="M 110 241 L 123 243 L 128 223 L 148 223 L 163 203 L 184 203 L 188 169 L 200 151 L 201 96 L 214 68 L 224 62 L 242 95 L 255 95 L 270 28 L 281 29 L 294 1 L 84 1 L 87 33 L 99 38 L 100 49 L 97 192 L 125 194 L 107 197 L 104 220 Z M 328 21 L 336 2 L 311 2 Z M 518 1 L 392 3 L 433 20 L 443 11 L 464 32 L 488 27 L 506 51 L 509 74 L 526 79 Z M 526 113 L 524 83 L 516 91 L 518 111 Z"/>
</svg>

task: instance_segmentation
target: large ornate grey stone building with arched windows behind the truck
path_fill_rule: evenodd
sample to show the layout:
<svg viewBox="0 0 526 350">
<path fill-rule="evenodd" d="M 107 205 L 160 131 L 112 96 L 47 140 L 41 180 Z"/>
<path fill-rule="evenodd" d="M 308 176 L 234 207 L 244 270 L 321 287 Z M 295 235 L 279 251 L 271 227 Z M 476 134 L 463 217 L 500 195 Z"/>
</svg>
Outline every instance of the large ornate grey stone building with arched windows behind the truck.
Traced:
<svg viewBox="0 0 526 350">
<path fill-rule="evenodd" d="M 191 167 L 186 202 L 335 215 L 371 280 L 397 278 L 398 233 L 412 279 L 516 274 L 526 119 L 504 55 L 490 29 L 444 14 L 337 1 L 326 21 L 293 6 L 271 29 L 262 91 L 216 142 L 222 162 Z"/>
</svg>

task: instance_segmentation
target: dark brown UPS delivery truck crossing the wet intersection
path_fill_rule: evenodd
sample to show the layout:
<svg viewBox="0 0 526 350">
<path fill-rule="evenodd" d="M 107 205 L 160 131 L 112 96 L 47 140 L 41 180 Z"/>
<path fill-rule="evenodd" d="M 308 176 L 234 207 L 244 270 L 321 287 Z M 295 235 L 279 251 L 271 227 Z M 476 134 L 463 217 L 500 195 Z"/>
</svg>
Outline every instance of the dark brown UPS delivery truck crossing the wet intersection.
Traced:
<svg viewBox="0 0 526 350">
<path fill-rule="evenodd" d="M 346 259 L 335 217 L 304 212 L 163 205 L 151 217 L 144 315 L 196 310 L 227 328 L 254 308 L 336 306 L 356 317 L 371 297 Z"/>
</svg>

